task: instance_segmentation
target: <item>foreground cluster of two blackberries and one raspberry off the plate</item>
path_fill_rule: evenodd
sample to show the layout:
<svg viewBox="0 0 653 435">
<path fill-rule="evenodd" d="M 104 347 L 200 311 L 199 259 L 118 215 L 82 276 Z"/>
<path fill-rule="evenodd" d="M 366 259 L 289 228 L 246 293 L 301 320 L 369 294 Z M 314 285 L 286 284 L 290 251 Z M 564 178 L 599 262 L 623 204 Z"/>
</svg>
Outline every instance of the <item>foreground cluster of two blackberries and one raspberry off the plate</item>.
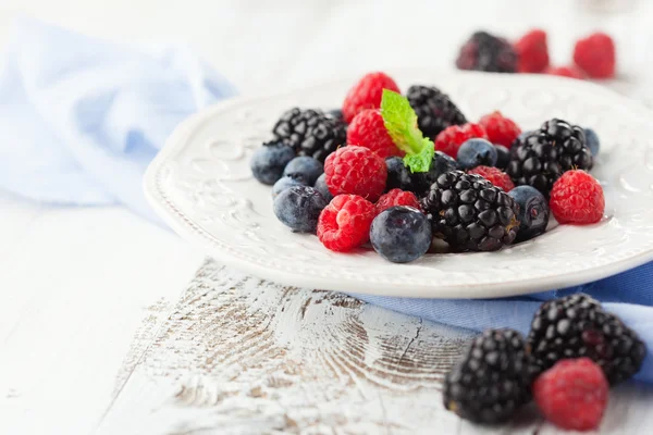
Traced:
<svg viewBox="0 0 653 435">
<path fill-rule="evenodd" d="M 544 302 L 526 338 L 513 330 L 477 337 L 444 378 L 444 407 L 477 423 L 509 420 L 534 399 L 555 425 L 596 428 L 611 386 L 646 356 L 640 337 L 591 297 Z"/>
</svg>

